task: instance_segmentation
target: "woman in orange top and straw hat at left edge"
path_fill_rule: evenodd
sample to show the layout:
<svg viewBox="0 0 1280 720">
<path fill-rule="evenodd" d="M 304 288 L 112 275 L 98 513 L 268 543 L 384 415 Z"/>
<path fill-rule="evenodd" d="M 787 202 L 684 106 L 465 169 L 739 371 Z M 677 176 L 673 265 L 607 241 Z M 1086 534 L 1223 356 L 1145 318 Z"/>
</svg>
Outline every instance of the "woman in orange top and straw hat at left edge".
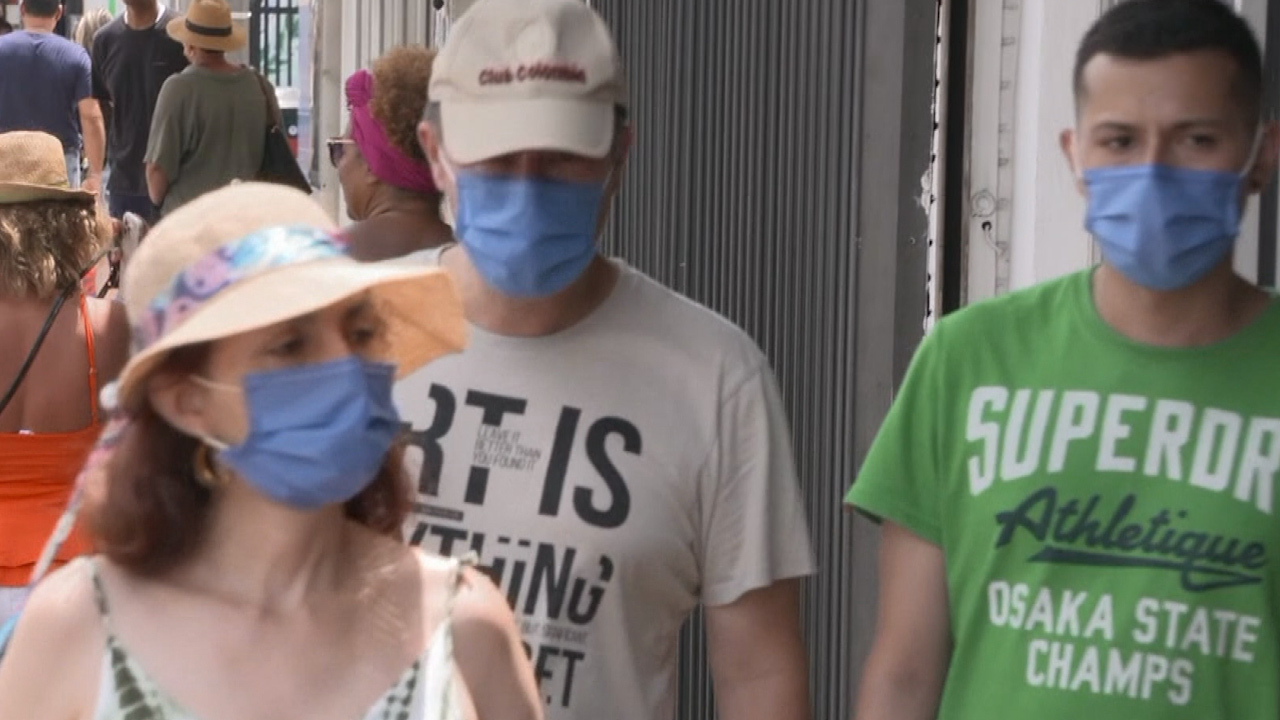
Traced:
<svg viewBox="0 0 1280 720">
<path fill-rule="evenodd" d="M 40 548 L 101 432 L 97 386 L 124 365 L 129 328 L 122 306 L 81 290 L 109 232 L 93 196 L 70 190 L 61 142 L 42 132 L 0 133 L 0 158 L 3 624 L 26 597 Z M 87 550 L 77 532 L 56 564 Z"/>
</svg>

